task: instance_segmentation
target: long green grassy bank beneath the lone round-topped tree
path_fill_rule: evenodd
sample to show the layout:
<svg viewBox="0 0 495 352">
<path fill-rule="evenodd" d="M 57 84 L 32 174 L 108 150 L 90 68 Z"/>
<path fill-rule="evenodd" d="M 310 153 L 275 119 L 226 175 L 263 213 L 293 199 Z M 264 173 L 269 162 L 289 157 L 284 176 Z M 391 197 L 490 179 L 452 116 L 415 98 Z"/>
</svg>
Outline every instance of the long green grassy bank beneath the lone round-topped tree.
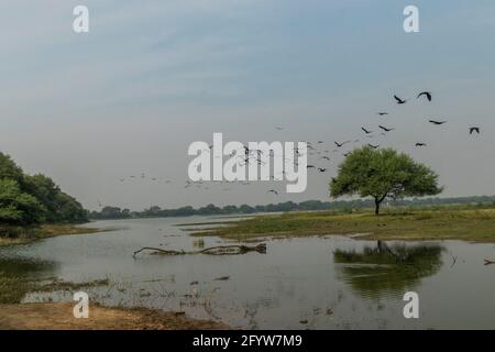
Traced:
<svg viewBox="0 0 495 352">
<path fill-rule="evenodd" d="M 371 240 L 457 239 L 495 242 L 495 208 L 395 209 L 378 217 L 371 211 L 290 212 L 229 222 L 221 228 L 195 233 L 241 241 L 261 237 L 315 234 L 360 234 Z"/>
</svg>

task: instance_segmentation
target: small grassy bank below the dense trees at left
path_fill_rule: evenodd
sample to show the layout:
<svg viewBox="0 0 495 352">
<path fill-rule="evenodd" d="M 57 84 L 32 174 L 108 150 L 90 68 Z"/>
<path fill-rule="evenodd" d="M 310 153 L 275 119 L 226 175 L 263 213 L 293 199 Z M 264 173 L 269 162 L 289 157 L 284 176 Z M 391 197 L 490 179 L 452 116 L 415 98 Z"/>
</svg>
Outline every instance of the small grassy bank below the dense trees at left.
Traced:
<svg viewBox="0 0 495 352">
<path fill-rule="evenodd" d="M 44 224 L 34 229 L 7 228 L 2 230 L 2 232 L 9 233 L 9 237 L 0 237 L 0 246 L 24 244 L 57 235 L 95 233 L 102 231 L 101 229 L 82 228 L 73 224 Z"/>
</svg>

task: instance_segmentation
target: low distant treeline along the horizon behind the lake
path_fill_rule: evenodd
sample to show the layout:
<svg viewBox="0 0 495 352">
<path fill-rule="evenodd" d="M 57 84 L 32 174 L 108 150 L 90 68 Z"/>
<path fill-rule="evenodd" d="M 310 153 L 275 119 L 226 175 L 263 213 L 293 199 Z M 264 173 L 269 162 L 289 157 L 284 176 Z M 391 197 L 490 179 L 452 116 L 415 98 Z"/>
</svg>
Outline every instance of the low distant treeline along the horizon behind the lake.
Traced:
<svg viewBox="0 0 495 352">
<path fill-rule="evenodd" d="M 477 196 L 463 198 L 413 198 L 395 200 L 391 206 L 442 206 L 442 205 L 495 205 L 495 196 Z M 280 212 L 280 211 L 309 211 L 309 210 L 352 210 L 374 207 L 372 199 L 320 201 L 307 200 L 301 202 L 285 201 L 270 204 L 266 206 L 224 206 L 217 207 L 208 205 L 201 208 L 182 207 L 177 209 L 162 209 L 153 206 L 143 211 L 131 211 L 119 207 L 103 207 L 101 211 L 92 211 L 89 217 L 95 220 L 102 219 L 130 219 L 130 218 L 167 218 L 188 216 L 212 216 L 212 215 L 245 215 L 255 212 Z"/>
</svg>

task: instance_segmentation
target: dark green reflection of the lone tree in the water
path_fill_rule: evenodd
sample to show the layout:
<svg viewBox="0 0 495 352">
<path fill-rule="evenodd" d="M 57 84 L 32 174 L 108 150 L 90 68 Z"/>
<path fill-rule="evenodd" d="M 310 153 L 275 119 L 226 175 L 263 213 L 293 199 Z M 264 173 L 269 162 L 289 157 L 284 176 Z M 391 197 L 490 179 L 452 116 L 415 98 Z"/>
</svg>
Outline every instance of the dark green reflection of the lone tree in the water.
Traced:
<svg viewBox="0 0 495 352">
<path fill-rule="evenodd" d="M 440 245 L 387 246 L 378 241 L 376 248 L 362 252 L 337 250 L 336 263 L 341 267 L 343 280 L 360 295 L 380 298 L 404 295 L 420 279 L 433 275 L 442 265 Z"/>
</svg>

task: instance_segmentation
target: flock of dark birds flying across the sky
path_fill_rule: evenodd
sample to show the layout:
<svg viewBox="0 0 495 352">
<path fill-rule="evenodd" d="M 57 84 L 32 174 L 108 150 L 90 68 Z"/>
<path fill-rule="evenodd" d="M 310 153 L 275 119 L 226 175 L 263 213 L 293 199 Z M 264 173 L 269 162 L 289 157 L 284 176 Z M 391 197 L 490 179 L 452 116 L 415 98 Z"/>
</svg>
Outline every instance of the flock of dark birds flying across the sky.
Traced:
<svg viewBox="0 0 495 352">
<path fill-rule="evenodd" d="M 421 91 L 421 92 L 419 92 L 417 95 L 416 98 L 417 99 L 425 99 L 426 101 L 431 102 L 432 101 L 432 94 L 430 91 Z M 394 99 L 395 99 L 395 102 L 397 105 L 399 105 L 399 106 L 403 106 L 403 105 L 408 102 L 408 99 L 399 98 L 396 95 L 394 95 Z M 385 116 L 388 116 L 388 112 L 387 111 L 380 111 L 376 114 L 380 116 L 380 117 L 385 117 Z M 428 122 L 433 124 L 433 125 L 438 125 L 438 127 L 448 123 L 448 121 L 439 120 L 439 119 L 429 119 Z M 284 127 L 277 125 L 275 129 L 277 131 L 283 131 Z M 378 129 L 380 129 L 380 131 L 377 131 L 377 132 L 380 132 L 380 134 L 382 136 L 385 136 L 387 133 L 389 133 L 389 132 L 395 130 L 393 128 L 387 128 L 387 127 L 385 127 L 383 124 L 378 124 Z M 369 128 L 362 127 L 361 130 L 362 130 L 362 132 L 364 132 L 364 136 L 365 138 L 372 139 L 372 138 L 375 136 L 375 131 L 372 131 Z M 480 134 L 481 133 L 481 128 L 480 127 L 475 127 L 475 125 L 469 127 L 469 134 L 473 134 L 473 133 Z M 324 142 L 323 141 L 317 141 L 315 143 L 307 142 L 307 148 L 308 148 L 307 153 L 308 153 L 308 156 L 317 156 L 318 157 L 318 162 L 316 162 L 316 163 L 322 163 L 322 161 L 328 163 L 328 162 L 330 162 L 330 153 L 339 153 L 344 145 L 351 144 L 353 142 L 354 143 L 360 143 L 360 142 L 362 142 L 362 139 L 355 139 L 353 141 L 349 140 L 349 141 L 343 141 L 343 142 L 333 141 L 333 144 L 334 144 L 336 147 L 333 148 L 332 152 L 330 152 L 330 150 L 328 147 L 324 147 Z M 372 144 L 372 143 L 365 143 L 365 145 L 370 146 L 371 148 L 375 148 L 375 150 L 381 146 L 380 144 Z M 416 147 L 424 147 L 424 146 L 427 146 L 427 143 L 425 143 L 425 142 L 416 142 L 415 146 Z M 212 148 L 212 145 L 209 146 L 209 150 L 211 150 L 211 148 Z M 251 163 L 257 163 L 257 165 L 264 165 L 267 161 L 270 161 L 270 157 L 274 156 L 273 155 L 273 151 L 270 151 L 270 155 L 263 155 L 263 151 L 250 150 L 248 146 L 243 146 L 243 150 L 237 151 L 234 153 L 235 153 L 235 155 L 238 157 L 239 165 L 248 165 L 248 164 L 251 164 Z M 234 155 L 234 153 L 232 154 L 232 156 Z M 295 157 L 290 158 L 289 161 L 293 162 L 294 165 L 297 166 L 297 156 L 299 156 L 301 154 L 299 153 L 297 147 L 295 147 L 294 153 L 295 153 Z M 342 153 L 343 156 L 348 156 L 349 154 L 350 154 L 350 152 Z M 263 161 L 263 160 L 265 160 L 265 161 Z M 287 158 L 286 158 L 286 161 L 287 161 Z M 328 170 L 328 166 L 327 165 L 316 166 L 314 164 L 308 164 L 307 168 L 308 169 L 315 169 L 318 173 L 326 173 Z M 285 172 L 283 170 L 282 174 L 285 174 Z M 278 175 L 278 176 L 282 176 L 282 175 Z M 151 182 L 164 180 L 165 184 L 172 183 L 172 180 L 166 179 L 166 178 L 162 179 L 162 178 L 157 178 L 157 177 L 147 177 L 144 173 L 141 173 L 140 176 L 131 175 L 131 176 L 128 176 L 128 177 L 120 178 L 120 182 L 123 183 L 123 182 L 129 180 L 129 179 L 142 179 L 142 180 L 143 179 L 150 179 Z M 274 180 L 274 179 L 276 179 L 276 177 L 274 177 L 274 175 L 272 175 L 271 179 Z M 222 185 L 222 187 L 223 187 L 222 190 L 231 190 L 231 188 L 226 187 L 226 185 L 235 184 L 235 185 L 248 186 L 248 185 L 252 184 L 251 182 L 227 182 L 227 180 L 211 182 L 211 183 Z M 186 180 L 185 185 L 184 185 L 184 188 L 190 188 L 190 187 L 196 187 L 196 188 L 201 188 L 201 189 L 209 189 L 208 185 L 205 182 Z M 271 194 L 274 194 L 274 195 L 278 195 L 278 191 L 276 189 L 268 189 L 267 193 L 271 193 Z M 98 205 L 99 205 L 99 207 L 102 207 L 102 205 L 100 202 L 98 202 Z"/>
</svg>

